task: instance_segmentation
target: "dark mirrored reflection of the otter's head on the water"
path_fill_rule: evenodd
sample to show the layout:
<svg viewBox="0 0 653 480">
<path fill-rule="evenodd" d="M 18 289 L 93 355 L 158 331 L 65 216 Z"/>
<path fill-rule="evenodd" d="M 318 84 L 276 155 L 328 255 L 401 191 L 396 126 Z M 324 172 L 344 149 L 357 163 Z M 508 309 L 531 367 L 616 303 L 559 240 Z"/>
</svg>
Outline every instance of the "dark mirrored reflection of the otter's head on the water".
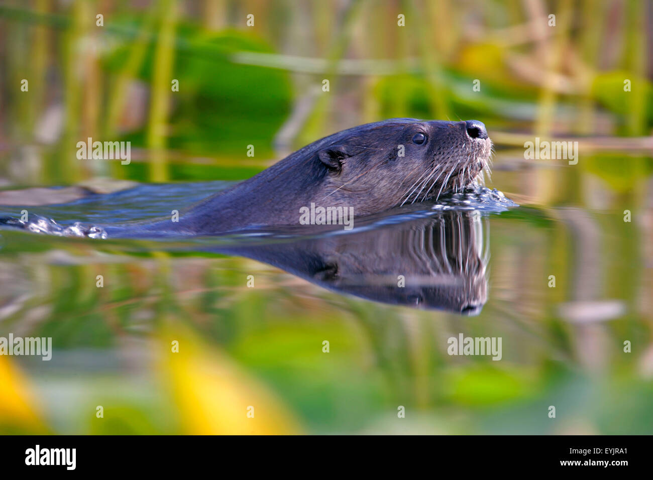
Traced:
<svg viewBox="0 0 653 480">
<path fill-rule="evenodd" d="M 477 315 L 487 300 L 479 212 L 441 212 L 382 228 L 229 253 L 376 302 Z"/>
</svg>

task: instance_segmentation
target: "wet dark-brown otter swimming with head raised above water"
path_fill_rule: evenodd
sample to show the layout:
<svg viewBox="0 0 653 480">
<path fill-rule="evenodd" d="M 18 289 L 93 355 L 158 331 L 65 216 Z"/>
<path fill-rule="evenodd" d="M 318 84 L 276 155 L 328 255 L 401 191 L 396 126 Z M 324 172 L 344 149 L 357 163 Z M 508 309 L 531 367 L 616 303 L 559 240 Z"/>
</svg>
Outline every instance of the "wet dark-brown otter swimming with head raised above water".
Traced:
<svg viewBox="0 0 653 480">
<path fill-rule="evenodd" d="M 179 221 L 107 227 L 106 232 L 114 237 L 147 238 L 297 225 L 302 212 L 314 205 L 346 209 L 360 218 L 466 189 L 488 168 L 491 151 L 485 125 L 477 120 L 394 118 L 367 123 L 291 153 L 248 180 L 199 202 Z M 2 223 L 47 231 L 17 219 Z M 91 231 L 83 227 L 72 230 L 72 234 L 81 232 L 83 236 Z M 93 234 L 103 236 L 97 231 Z"/>
</svg>

